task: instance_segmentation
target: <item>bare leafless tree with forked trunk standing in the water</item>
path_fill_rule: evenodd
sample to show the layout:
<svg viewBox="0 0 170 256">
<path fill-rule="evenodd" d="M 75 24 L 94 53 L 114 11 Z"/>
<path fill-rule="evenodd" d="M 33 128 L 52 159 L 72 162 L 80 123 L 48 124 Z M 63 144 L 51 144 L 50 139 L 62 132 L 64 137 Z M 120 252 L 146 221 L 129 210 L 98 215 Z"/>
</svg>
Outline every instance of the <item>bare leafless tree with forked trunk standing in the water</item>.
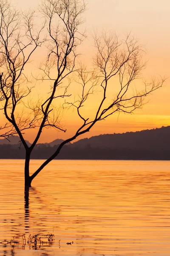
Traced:
<svg viewBox="0 0 170 256">
<path fill-rule="evenodd" d="M 88 71 L 83 65 L 78 66 L 77 47 L 84 38 L 79 25 L 83 22 L 84 11 L 85 3 L 81 0 L 45 0 L 42 13 L 46 19 L 48 35 L 45 40 L 40 40 L 45 25 L 39 30 L 34 29 L 34 13 L 21 15 L 5 0 L 0 2 L 0 93 L 4 98 L 6 119 L 13 125 L 26 150 L 26 186 L 31 186 L 34 177 L 59 154 L 66 143 L 90 131 L 96 122 L 115 112 L 132 113 L 142 106 L 144 96 L 161 87 L 164 82 L 164 79 L 145 82 L 143 89 L 137 90 L 134 81 L 140 78 L 144 68 L 143 49 L 130 35 L 125 40 L 119 40 L 112 32 L 99 35 L 94 33 L 94 70 Z M 43 47 L 42 43 L 47 47 L 48 54 L 40 64 L 37 79 L 45 85 L 50 82 L 48 96 L 43 100 L 38 99 L 35 104 L 31 101 L 26 103 L 25 99 L 30 95 L 32 87 L 28 86 L 24 67 L 37 47 Z M 74 97 L 70 91 L 70 75 L 73 73 L 79 92 Z M 85 107 L 90 97 L 96 94 L 96 112 L 94 116 L 88 116 Z M 21 105 L 28 109 L 27 116 L 24 113 L 23 116 L 17 114 L 18 106 Z M 60 125 L 59 118 L 65 107 L 76 108 L 82 125 L 73 137 L 63 141 L 54 154 L 30 176 L 31 152 L 42 129 L 52 127 L 66 131 Z M 23 131 L 35 127 L 38 127 L 37 134 L 32 145 L 28 146 Z"/>
</svg>

